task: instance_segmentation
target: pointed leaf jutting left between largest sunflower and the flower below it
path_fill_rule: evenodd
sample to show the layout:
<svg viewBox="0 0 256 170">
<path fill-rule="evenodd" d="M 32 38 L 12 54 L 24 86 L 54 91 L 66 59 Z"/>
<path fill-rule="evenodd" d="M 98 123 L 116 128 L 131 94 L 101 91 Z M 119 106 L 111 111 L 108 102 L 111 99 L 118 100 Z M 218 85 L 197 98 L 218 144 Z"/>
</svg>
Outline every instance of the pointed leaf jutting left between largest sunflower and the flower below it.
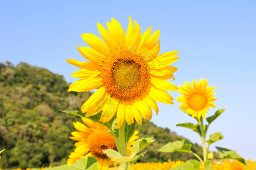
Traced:
<svg viewBox="0 0 256 170">
<path fill-rule="evenodd" d="M 102 122 L 98 121 L 101 118 L 101 113 L 95 114 L 95 115 L 90 116 L 90 117 L 86 117 L 85 116 L 86 113 L 82 113 L 82 111 L 60 111 L 60 112 L 65 112 L 65 113 L 73 114 L 73 115 L 76 115 L 76 116 L 89 118 L 92 121 L 95 121 L 95 122 L 98 122 L 99 124 L 102 124 Z M 110 120 L 109 122 L 106 122 L 102 125 L 106 126 L 108 129 L 110 129 L 110 128 L 112 128 L 113 121 L 114 121 L 114 117 L 112 118 L 112 120 Z"/>
</svg>

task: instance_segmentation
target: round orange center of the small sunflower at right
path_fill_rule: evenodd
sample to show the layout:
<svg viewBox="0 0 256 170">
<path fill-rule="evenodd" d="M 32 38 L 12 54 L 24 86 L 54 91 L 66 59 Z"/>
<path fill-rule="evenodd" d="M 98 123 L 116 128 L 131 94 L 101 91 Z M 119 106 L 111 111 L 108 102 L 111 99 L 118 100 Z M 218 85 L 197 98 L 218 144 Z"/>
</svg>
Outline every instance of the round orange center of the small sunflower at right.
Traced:
<svg viewBox="0 0 256 170">
<path fill-rule="evenodd" d="M 206 105 L 206 99 L 205 96 L 199 93 L 192 94 L 189 99 L 189 107 L 193 109 L 194 111 L 200 111 L 204 109 Z"/>
</svg>

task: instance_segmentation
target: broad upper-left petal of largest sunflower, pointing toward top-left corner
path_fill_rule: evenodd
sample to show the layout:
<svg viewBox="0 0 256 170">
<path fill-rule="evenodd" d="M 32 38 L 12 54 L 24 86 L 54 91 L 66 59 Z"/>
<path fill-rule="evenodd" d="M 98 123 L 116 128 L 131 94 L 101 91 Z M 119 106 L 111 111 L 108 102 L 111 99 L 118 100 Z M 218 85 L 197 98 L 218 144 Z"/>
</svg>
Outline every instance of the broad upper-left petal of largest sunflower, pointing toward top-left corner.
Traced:
<svg viewBox="0 0 256 170">
<path fill-rule="evenodd" d="M 104 56 L 108 56 L 111 53 L 108 46 L 99 37 L 91 33 L 84 33 L 81 37 L 90 47 Z"/>
</svg>

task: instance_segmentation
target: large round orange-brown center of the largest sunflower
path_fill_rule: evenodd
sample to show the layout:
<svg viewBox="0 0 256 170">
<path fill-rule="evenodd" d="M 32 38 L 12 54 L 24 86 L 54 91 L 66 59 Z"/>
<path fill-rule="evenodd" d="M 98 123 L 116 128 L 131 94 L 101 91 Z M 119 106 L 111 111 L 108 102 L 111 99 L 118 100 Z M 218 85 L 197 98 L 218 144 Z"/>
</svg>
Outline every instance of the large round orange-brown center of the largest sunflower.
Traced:
<svg viewBox="0 0 256 170">
<path fill-rule="evenodd" d="M 150 79 L 147 63 L 131 50 L 115 52 L 102 67 L 102 84 L 120 100 L 139 96 Z"/>
</svg>

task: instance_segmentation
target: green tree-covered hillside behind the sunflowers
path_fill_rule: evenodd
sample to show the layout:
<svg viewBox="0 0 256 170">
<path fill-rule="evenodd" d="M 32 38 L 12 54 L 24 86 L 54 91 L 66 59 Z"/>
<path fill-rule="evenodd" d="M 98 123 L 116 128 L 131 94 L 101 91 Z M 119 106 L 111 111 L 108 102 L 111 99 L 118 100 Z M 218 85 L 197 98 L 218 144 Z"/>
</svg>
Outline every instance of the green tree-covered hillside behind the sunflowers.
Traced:
<svg viewBox="0 0 256 170">
<path fill-rule="evenodd" d="M 46 69 L 19 63 L 0 63 L 0 150 L 1 168 L 36 168 L 65 164 L 74 150 L 68 137 L 75 130 L 72 122 L 79 117 L 59 110 L 78 110 L 89 92 L 67 92 L 69 84 L 63 76 Z M 140 162 L 163 162 L 168 159 L 188 160 L 191 155 L 157 152 L 164 144 L 182 139 L 169 129 L 151 122 L 137 126 L 139 136 L 156 141 L 147 147 Z M 160 132 L 160 133 L 159 133 Z M 195 152 L 201 149 L 195 145 Z M 197 152 L 198 153 L 198 152 Z"/>
</svg>

